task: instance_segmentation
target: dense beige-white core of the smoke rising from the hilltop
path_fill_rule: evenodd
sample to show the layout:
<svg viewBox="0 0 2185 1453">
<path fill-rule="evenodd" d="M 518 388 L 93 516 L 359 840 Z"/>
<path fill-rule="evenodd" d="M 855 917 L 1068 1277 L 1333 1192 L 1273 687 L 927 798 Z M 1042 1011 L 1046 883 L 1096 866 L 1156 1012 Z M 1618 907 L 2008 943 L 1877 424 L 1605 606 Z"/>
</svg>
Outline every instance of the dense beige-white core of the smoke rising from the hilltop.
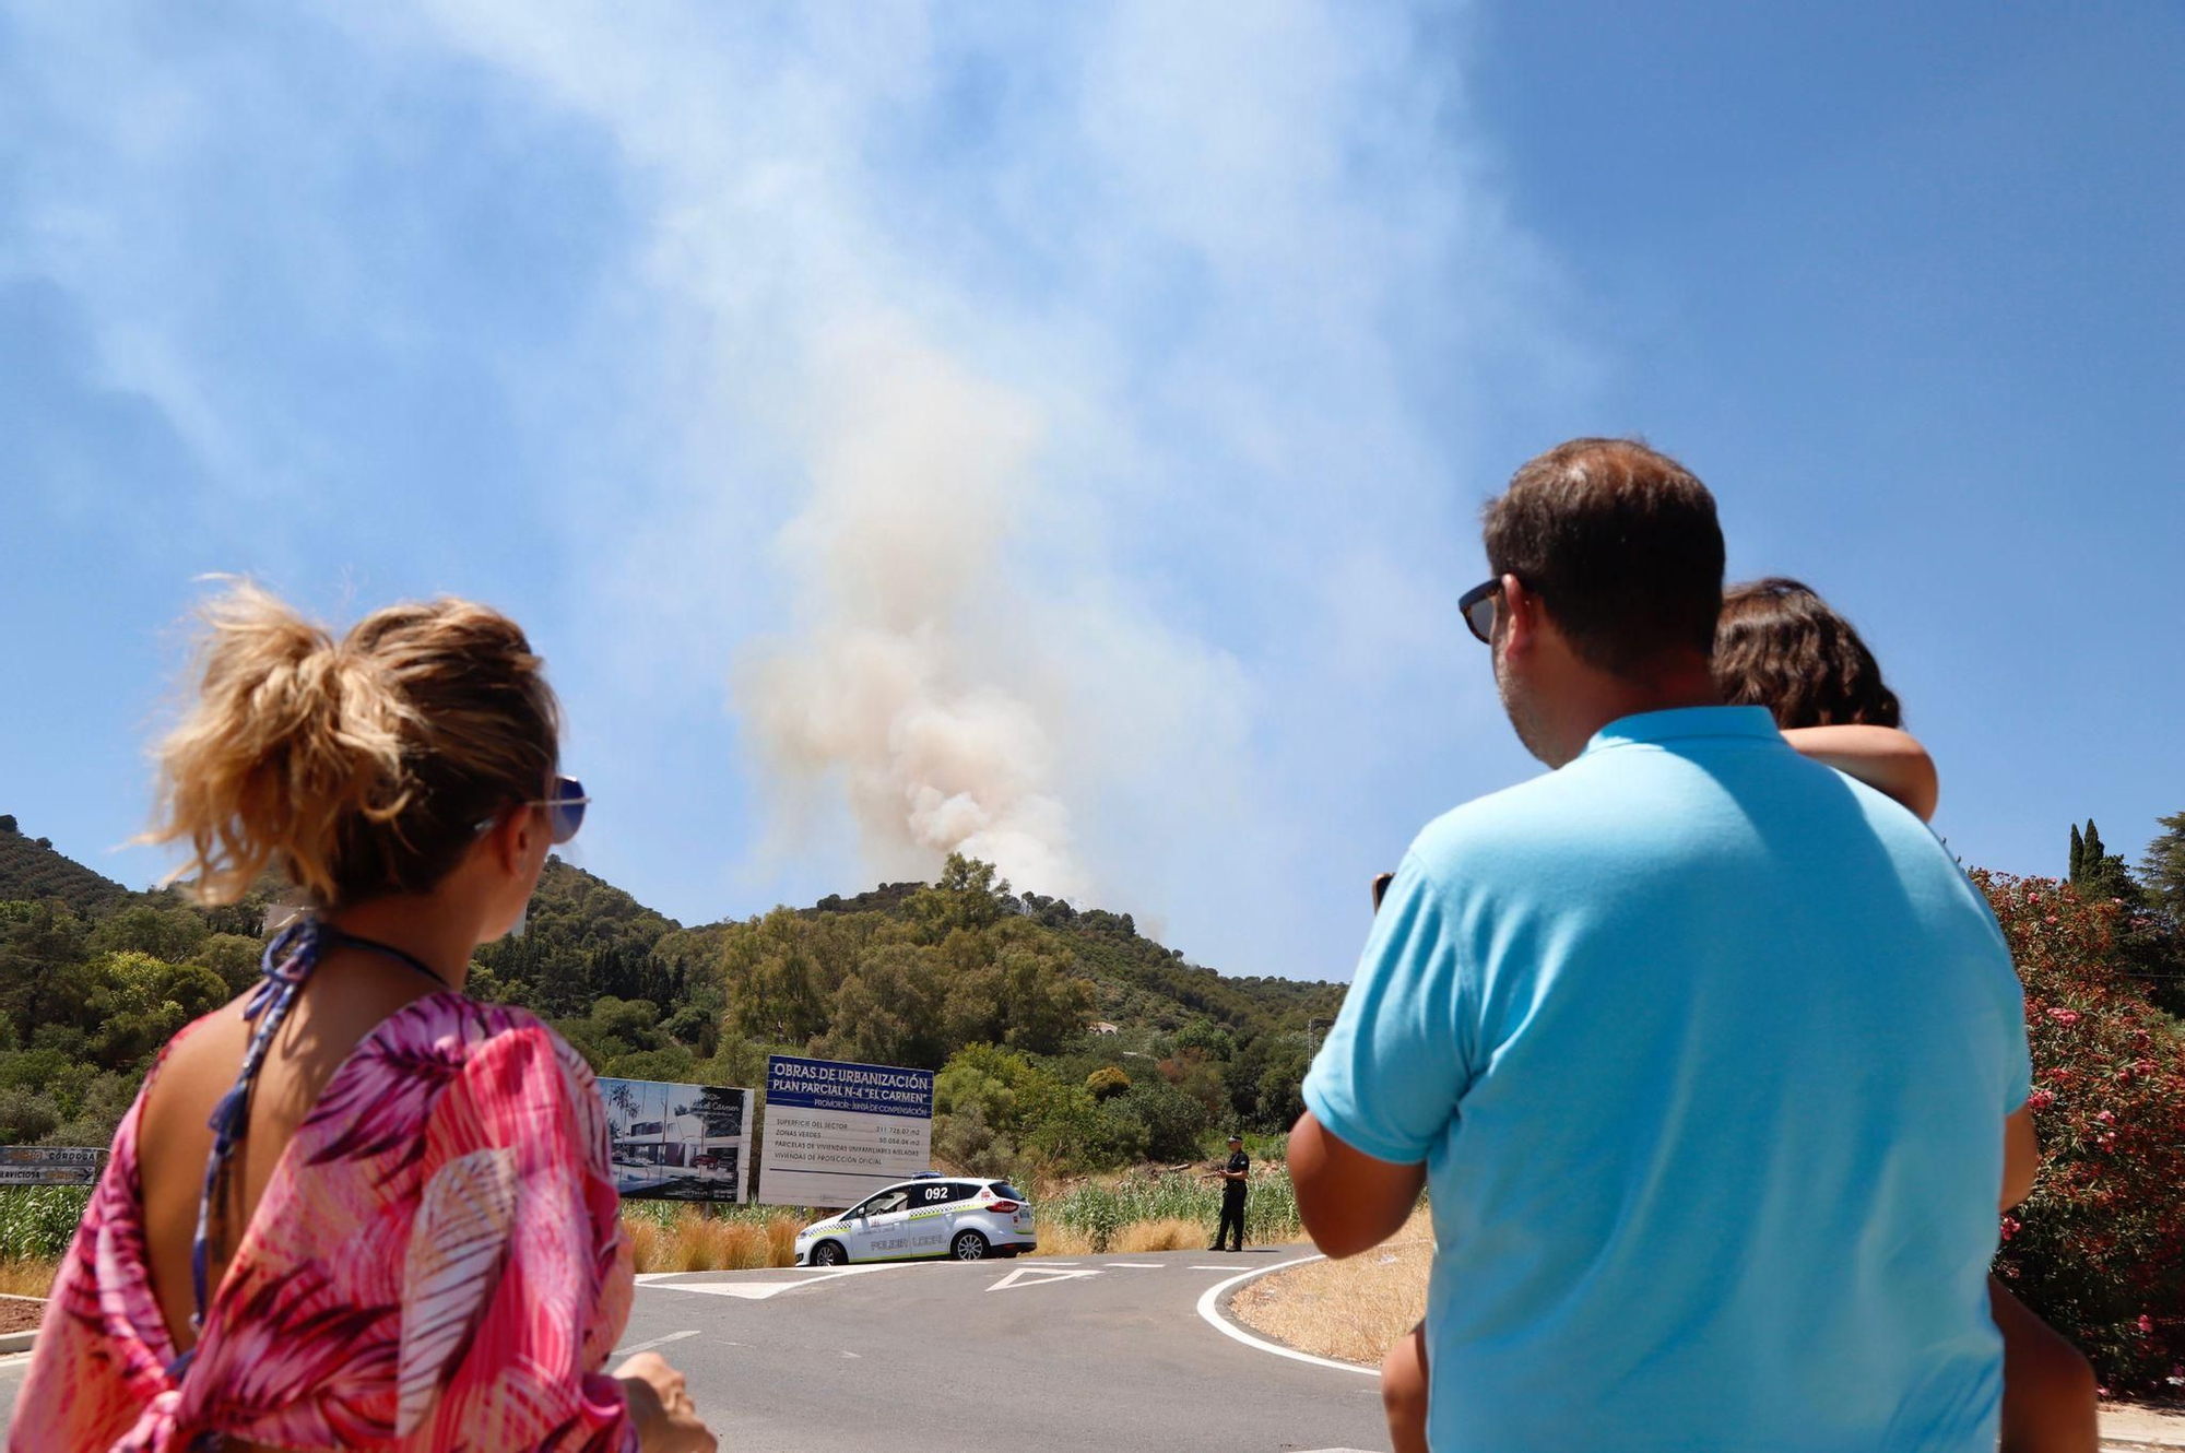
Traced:
<svg viewBox="0 0 2185 1453">
<path fill-rule="evenodd" d="M 760 769 L 791 817 L 808 802 L 795 789 L 839 782 L 883 874 L 966 852 L 1018 887 L 1079 896 L 1053 736 L 981 640 L 1005 610 L 1001 555 L 1040 420 L 896 328 L 819 354 L 811 494 L 780 540 L 802 629 L 763 642 L 736 680 Z"/>
</svg>

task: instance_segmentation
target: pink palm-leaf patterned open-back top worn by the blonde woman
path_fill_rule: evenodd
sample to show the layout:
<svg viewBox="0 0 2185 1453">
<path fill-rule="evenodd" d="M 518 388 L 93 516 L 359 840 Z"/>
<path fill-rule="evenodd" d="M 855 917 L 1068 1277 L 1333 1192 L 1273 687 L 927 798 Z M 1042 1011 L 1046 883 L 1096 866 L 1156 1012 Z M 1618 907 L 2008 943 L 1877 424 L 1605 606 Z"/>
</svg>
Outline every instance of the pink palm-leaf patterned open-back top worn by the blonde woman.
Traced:
<svg viewBox="0 0 2185 1453">
<path fill-rule="evenodd" d="M 601 1372 L 631 1296 L 605 1114 L 542 1023 L 430 994 L 365 1036 L 282 1151 L 179 1379 L 144 1259 L 142 1108 L 61 1263 L 11 1453 L 636 1451 Z"/>
</svg>

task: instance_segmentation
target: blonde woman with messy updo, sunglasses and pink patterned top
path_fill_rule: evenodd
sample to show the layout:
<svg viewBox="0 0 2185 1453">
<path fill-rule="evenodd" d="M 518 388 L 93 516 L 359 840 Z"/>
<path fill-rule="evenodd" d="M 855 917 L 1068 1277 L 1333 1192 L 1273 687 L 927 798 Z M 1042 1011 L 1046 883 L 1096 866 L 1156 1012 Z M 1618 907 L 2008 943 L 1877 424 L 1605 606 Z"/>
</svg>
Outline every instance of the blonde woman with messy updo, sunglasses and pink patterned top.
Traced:
<svg viewBox="0 0 2185 1453">
<path fill-rule="evenodd" d="M 542 662 L 468 601 L 345 638 L 251 586 L 205 612 L 153 841 L 232 902 L 315 905 L 166 1047 L 61 1263 L 15 1453 L 710 1453 L 640 1355 L 592 1075 L 463 996 L 583 819 Z"/>
</svg>

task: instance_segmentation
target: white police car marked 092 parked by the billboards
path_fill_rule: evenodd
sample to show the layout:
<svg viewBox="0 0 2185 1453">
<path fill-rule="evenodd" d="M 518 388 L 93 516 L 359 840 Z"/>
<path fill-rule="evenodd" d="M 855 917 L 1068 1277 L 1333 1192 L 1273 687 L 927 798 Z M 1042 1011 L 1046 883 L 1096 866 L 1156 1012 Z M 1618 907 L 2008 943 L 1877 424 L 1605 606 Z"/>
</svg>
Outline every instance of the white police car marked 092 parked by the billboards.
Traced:
<svg viewBox="0 0 2185 1453">
<path fill-rule="evenodd" d="M 800 1267 L 953 1256 L 983 1261 L 1038 1245 L 1031 1202 L 1005 1180 L 926 1173 L 874 1191 L 798 1232 Z"/>
</svg>

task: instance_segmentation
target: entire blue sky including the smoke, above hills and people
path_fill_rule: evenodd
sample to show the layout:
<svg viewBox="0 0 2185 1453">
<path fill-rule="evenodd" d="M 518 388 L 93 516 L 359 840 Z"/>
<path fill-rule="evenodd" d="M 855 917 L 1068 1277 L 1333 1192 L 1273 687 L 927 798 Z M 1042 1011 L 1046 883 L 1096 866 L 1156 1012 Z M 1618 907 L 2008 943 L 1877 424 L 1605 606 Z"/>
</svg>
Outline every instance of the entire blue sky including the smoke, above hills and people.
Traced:
<svg viewBox="0 0 2185 1453">
<path fill-rule="evenodd" d="M 0 9 L 0 811 L 129 883 L 203 572 L 518 616 L 686 920 L 990 850 L 1228 972 L 1534 767 L 1578 433 L 1881 653 L 1973 863 L 2185 811 L 2185 11 Z"/>
</svg>

